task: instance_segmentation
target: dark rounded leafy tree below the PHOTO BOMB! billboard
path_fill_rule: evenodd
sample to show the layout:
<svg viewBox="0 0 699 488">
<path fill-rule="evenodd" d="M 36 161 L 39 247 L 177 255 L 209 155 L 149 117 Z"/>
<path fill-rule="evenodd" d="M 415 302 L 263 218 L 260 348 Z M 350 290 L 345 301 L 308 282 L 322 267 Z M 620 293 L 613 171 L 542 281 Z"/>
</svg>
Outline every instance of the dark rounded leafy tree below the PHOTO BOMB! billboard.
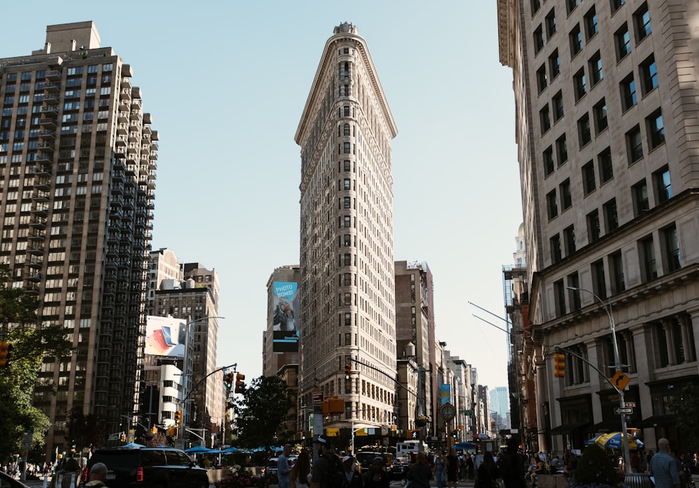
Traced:
<svg viewBox="0 0 699 488">
<path fill-rule="evenodd" d="M 294 431 L 287 429 L 289 411 L 294 407 L 294 396 L 284 380 L 277 376 L 260 376 L 243 390 L 243 399 L 233 404 L 236 427 L 241 445 L 250 448 L 282 445 Z"/>
</svg>

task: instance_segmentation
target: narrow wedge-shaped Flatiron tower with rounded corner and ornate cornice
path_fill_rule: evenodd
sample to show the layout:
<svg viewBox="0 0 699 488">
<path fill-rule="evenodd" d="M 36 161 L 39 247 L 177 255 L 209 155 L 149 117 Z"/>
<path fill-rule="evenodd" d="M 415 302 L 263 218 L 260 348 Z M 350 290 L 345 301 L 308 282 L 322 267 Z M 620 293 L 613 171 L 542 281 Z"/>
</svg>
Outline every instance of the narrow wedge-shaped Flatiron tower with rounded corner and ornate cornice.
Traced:
<svg viewBox="0 0 699 488">
<path fill-rule="evenodd" d="M 299 412 L 314 388 L 345 399 L 326 427 L 389 424 L 396 404 L 391 140 L 375 66 L 354 25 L 326 42 L 301 146 Z M 354 373 L 345 380 L 345 364 Z"/>
</svg>

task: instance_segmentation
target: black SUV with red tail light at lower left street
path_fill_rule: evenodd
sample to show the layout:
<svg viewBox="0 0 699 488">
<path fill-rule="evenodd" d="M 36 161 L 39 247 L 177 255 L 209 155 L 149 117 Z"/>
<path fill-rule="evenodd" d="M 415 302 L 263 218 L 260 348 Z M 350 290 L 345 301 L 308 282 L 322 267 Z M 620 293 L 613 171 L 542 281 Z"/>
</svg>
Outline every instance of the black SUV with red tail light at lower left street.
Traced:
<svg viewBox="0 0 699 488">
<path fill-rule="evenodd" d="M 95 463 L 107 466 L 109 488 L 208 488 L 206 469 L 187 453 L 172 448 L 103 448 L 92 454 L 82 473 L 82 485 Z M 80 485 L 80 486 L 82 486 Z"/>
</svg>

